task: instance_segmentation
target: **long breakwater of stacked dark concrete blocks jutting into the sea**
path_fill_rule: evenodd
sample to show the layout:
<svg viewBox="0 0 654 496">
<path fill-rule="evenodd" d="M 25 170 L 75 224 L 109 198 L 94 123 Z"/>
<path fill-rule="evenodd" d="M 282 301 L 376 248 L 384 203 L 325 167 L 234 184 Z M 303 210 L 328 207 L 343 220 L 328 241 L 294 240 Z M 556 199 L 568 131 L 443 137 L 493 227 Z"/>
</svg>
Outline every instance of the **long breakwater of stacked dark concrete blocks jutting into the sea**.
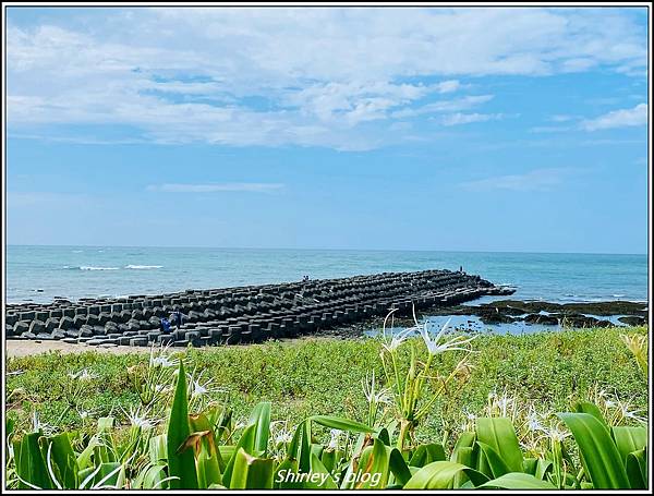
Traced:
<svg viewBox="0 0 654 496">
<path fill-rule="evenodd" d="M 480 276 L 423 270 L 76 302 L 56 299 L 8 304 L 5 336 L 99 347 L 259 342 L 384 316 L 391 309 L 409 315 L 412 305 L 422 311 L 511 292 Z M 175 311 L 183 315 L 181 328 L 162 331 L 161 318 Z"/>
</svg>

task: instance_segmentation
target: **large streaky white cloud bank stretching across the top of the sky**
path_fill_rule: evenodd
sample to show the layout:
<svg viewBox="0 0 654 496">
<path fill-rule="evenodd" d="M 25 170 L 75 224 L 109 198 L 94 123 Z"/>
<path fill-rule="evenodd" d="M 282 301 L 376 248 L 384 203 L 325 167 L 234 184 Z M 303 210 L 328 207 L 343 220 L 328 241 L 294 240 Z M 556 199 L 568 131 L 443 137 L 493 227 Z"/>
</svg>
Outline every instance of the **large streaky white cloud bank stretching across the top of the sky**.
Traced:
<svg viewBox="0 0 654 496">
<path fill-rule="evenodd" d="M 429 98 L 464 77 L 646 66 L 646 37 L 620 11 L 165 8 L 84 21 L 9 15 L 12 132 L 106 124 L 156 143 L 370 149 L 415 137 L 389 131 L 397 119 L 492 98 Z M 424 76 L 434 83 L 407 82 Z"/>
</svg>

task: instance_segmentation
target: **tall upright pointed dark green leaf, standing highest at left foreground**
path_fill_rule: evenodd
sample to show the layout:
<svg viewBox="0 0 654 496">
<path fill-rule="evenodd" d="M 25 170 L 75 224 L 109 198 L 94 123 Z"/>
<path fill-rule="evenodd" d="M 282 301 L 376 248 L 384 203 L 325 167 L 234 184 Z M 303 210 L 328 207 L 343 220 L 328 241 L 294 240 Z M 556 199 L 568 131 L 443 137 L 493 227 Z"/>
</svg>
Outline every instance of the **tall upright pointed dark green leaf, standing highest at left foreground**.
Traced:
<svg viewBox="0 0 654 496">
<path fill-rule="evenodd" d="M 186 372 L 184 362 L 180 360 L 180 367 L 174 389 L 174 398 L 168 421 L 168 435 L 166 447 L 168 452 L 168 474 L 179 477 L 170 481 L 172 489 L 196 489 L 197 473 L 195 471 L 195 457 L 192 450 L 180 448 L 184 445 L 191 427 L 189 425 L 189 397 L 186 389 Z"/>
</svg>

